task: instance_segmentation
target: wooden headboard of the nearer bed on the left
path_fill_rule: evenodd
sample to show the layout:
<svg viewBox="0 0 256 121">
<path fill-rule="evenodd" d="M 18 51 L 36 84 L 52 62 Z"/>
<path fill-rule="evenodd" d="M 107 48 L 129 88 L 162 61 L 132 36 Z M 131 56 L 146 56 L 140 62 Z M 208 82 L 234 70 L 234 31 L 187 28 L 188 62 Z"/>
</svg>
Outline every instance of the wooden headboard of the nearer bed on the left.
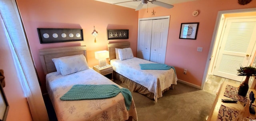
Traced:
<svg viewBox="0 0 256 121">
<path fill-rule="evenodd" d="M 61 48 L 40 49 L 40 60 L 44 69 L 44 74 L 56 71 L 52 58 L 60 58 L 64 56 L 74 56 L 83 54 L 86 57 L 86 46 L 71 46 Z"/>
</svg>

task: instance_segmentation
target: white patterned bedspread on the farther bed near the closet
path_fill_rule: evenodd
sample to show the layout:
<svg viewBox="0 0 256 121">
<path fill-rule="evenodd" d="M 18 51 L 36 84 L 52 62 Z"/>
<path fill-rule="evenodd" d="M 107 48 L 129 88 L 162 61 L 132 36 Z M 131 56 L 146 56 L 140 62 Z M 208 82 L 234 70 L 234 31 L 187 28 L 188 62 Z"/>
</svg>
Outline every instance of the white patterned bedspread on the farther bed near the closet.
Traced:
<svg viewBox="0 0 256 121">
<path fill-rule="evenodd" d="M 154 63 L 140 58 L 127 60 L 114 59 L 110 61 L 114 71 L 146 87 L 154 93 L 154 100 L 162 97 L 162 91 L 172 84 L 177 84 L 177 75 L 174 69 L 169 70 L 142 70 L 139 64 Z"/>
</svg>

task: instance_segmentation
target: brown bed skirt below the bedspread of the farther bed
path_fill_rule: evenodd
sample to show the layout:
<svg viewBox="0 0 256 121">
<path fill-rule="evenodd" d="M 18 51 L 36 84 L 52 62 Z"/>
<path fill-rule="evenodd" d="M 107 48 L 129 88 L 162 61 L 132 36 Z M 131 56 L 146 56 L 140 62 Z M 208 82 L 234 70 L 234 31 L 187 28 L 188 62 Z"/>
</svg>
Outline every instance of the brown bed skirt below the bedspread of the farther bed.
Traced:
<svg viewBox="0 0 256 121">
<path fill-rule="evenodd" d="M 114 78 L 114 80 L 120 81 L 122 84 L 126 85 L 130 91 L 138 92 L 142 95 L 145 95 L 149 99 L 154 100 L 154 93 L 148 91 L 148 89 L 146 87 L 124 77 L 123 75 L 117 73 L 116 71 L 113 71 L 113 78 Z M 173 89 L 173 85 L 171 85 L 171 87 L 164 89 L 162 91 L 162 93 L 164 93 L 165 91 L 168 91 L 169 89 Z"/>
</svg>

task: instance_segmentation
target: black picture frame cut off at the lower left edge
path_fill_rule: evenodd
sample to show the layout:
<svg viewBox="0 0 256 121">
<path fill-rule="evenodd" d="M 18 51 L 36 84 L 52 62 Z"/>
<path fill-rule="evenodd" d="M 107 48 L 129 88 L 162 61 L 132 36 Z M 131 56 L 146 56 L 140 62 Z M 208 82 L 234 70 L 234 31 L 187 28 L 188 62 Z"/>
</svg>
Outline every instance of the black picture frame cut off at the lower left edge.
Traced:
<svg viewBox="0 0 256 121">
<path fill-rule="evenodd" d="M 2 85 L 0 84 L 0 121 L 6 121 L 7 115 L 8 115 L 8 111 L 9 111 L 9 104 L 8 101 L 6 99 L 5 93 L 4 93 L 4 89 L 2 87 Z"/>
</svg>

